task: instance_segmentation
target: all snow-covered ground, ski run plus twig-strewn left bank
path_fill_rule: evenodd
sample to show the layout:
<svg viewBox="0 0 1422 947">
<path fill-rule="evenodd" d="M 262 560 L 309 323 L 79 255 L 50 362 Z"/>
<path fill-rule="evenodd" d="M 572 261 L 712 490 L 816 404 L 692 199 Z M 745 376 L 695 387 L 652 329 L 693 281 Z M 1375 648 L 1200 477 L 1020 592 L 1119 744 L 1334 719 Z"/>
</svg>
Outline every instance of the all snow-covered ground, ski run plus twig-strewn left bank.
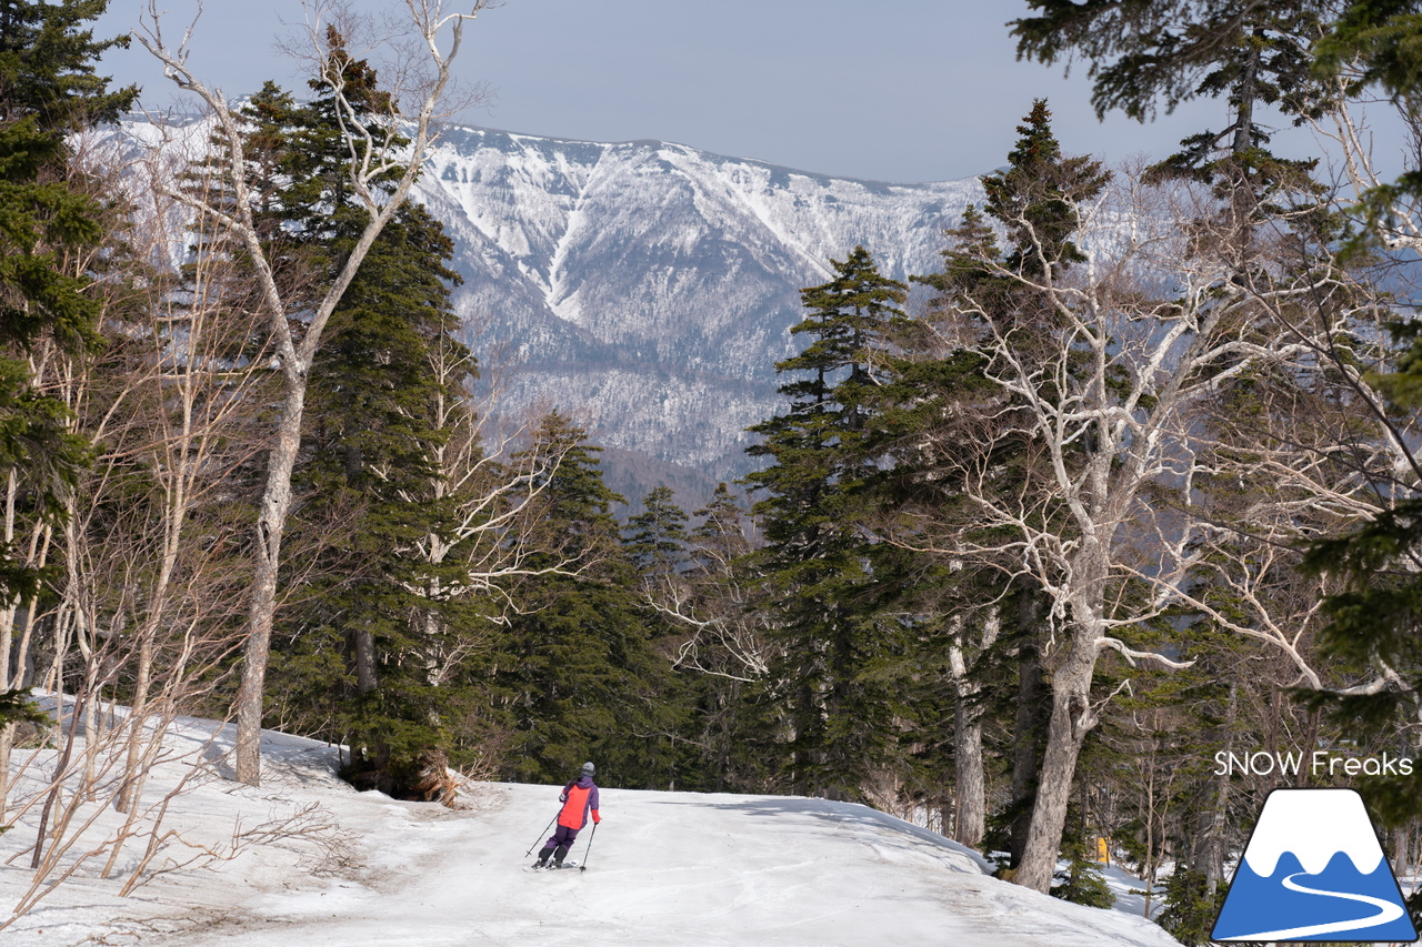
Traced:
<svg viewBox="0 0 1422 947">
<path fill-rule="evenodd" d="M 166 803 L 145 883 L 119 897 L 148 849 L 139 835 L 108 880 L 100 877 L 107 853 L 81 863 L 0 931 L 0 943 L 1176 943 L 1139 916 L 988 877 L 977 853 L 859 805 L 604 786 L 603 822 L 596 833 L 584 829 L 570 855 L 586 870 L 536 873 L 526 852 L 542 843 L 559 786 L 471 782 L 458 809 L 397 802 L 341 782 L 334 748 L 269 732 L 263 785 L 250 788 L 226 778 L 229 747 L 230 728 L 179 719 L 144 791 L 142 809 Z M 28 764 L 18 796 L 38 791 L 55 758 L 54 749 L 17 752 L 16 766 Z M 186 788 L 169 798 L 183 778 Z M 37 808 L 0 836 L 0 923 L 31 890 Z M 124 822 L 101 805 L 78 815 L 95 813 L 90 843 L 73 846 L 64 865 Z M 188 866 L 162 870 L 179 862 Z"/>
</svg>

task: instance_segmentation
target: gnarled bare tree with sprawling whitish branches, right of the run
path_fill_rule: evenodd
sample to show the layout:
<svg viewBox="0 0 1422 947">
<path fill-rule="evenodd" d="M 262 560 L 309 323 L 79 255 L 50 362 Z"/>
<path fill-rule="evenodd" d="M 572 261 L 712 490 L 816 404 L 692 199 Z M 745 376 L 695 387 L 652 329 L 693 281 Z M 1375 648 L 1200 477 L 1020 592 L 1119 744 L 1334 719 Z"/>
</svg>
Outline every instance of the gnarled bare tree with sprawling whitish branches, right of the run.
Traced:
<svg viewBox="0 0 1422 947">
<path fill-rule="evenodd" d="M 1042 663 L 1051 718 L 1017 872 L 1037 890 L 1051 886 L 1076 759 L 1099 721 L 1098 661 L 1113 653 L 1128 664 L 1185 664 L 1133 646 L 1130 631 L 1175 601 L 1163 590 L 1186 589 L 1170 577 L 1193 565 L 1193 491 L 1213 456 L 1204 407 L 1257 371 L 1307 365 L 1337 328 L 1280 319 L 1271 303 L 1297 294 L 1297 282 L 1241 284 L 1241 272 L 1284 266 L 1270 256 L 1271 237 L 1291 223 L 1256 232 L 1236 212 L 1203 189 L 1128 175 L 1076 208 L 1088 235 L 1079 266 L 1054 266 L 1024 215 L 1005 223 L 1027 235 L 1027 253 L 1041 264 L 973 256 L 993 279 L 980 283 L 983 296 L 956 300 L 960 324 L 974 327 L 990 391 L 930 437 L 951 438 L 939 444 L 939 475 L 961 489 L 966 513 L 953 522 L 971 526 L 944 532 L 921 513 L 900 542 L 1003 570 L 1004 586 L 1025 579 L 1049 604 Z M 1003 286 L 1038 300 L 1039 320 L 988 296 Z M 1005 452 L 1015 456 L 1011 471 Z M 1288 647 L 1284 636 L 1266 637 Z"/>
</svg>

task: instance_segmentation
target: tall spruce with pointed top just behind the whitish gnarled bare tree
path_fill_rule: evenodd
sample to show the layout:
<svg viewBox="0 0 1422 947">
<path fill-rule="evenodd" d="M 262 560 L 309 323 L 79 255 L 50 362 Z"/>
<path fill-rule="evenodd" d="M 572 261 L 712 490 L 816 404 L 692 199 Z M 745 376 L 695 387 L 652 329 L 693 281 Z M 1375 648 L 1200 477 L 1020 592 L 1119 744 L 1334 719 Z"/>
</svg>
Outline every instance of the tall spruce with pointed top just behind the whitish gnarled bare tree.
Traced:
<svg viewBox="0 0 1422 947">
<path fill-rule="evenodd" d="M 1041 468 L 1041 432 L 1027 415 L 1027 397 L 994 381 L 1014 371 L 994 358 L 1011 358 L 1031 373 L 1038 387 L 1032 397 L 1047 402 L 1072 384 L 1058 367 L 1061 313 L 1051 287 L 1085 259 L 1075 243 L 1078 206 L 1098 198 L 1109 181 L 1098 162 L 1062 155 L 1045 101 L 1032 104 L 1018 135 L 1007 168 L 983 179 L 985 216 L 968 208 L 948 230 L 943 270 L 914 277 L 934 294 L 923 317 L 893 337 L 886 381 L 876 392 L 883 438 L 876 449 L 893 458 L 879 491 L 886 520 L 900 520 L 890 529 L 906 545 L 943 550 L 923 557 L 920 582 L 904 586 L 900 601 L 910 613 L 939 616 L 924 624 L 923 646 L 930 667 L 941 667 L 956 685 L 930 697 L 946 704 L 957 735 L 937 745 L 956 744 L 958 793 L 974 796 L 973 805 L 960 802 L 973 812 L 984 778 L 973 765 L 984 738 L 980 721 L 1000 721 L 1010 788 L 990 819 L 990 838 L 1010 852 L 1011 867 L 1027 849 L 1047 747 L 1051 626 L 1042 587 L 1012 560 L 1021 552 L 995 559 L 988 553 L 1000 537 L 977 525 L 977 505 L 1028 510 L 1032 529 L 1054 535 L 1069 536 L 1071 528 L 1049 498 L 1051 476 Z M 1005 246 L 990 222 L 1001 228 Z M 1038 374 L 1038 364 L 1049 368 Z M 1068 355 L 1068 371 L 1071 364 Z M 1075 464 L 1089 451 L 1078 442 L 1064 459 Z M 956 549 L 975 552 L 956 556 Z M 975 826 L 970 830 L 977 833 Z"/>
</svg>

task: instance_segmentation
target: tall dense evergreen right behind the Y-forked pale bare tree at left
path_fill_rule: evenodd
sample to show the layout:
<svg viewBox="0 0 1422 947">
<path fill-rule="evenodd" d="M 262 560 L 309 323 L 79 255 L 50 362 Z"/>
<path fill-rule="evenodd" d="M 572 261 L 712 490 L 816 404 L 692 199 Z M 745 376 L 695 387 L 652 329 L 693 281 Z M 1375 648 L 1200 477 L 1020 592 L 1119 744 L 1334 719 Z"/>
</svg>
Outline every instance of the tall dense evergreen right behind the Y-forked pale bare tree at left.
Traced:
<svg viewBox="0 0 1422 947">
<path fill-rule="evenodd" d="M 361 119 L 384 115 L 388 95 L 341 37 L 327 55 Z M 365 209 L 350 193 L 348 159 L 330 87 L 297 107 L 273 85 L 243 111 L 262 222 L 277 259 L 314 272 L 320 294 L 360 237 Z M 392 181 L 400 169 L 392 169 Z M 314 557 L 290 556 L 300 603 L 279 647 L 282 704 L 316 732 L 351 744 L 350 775 L 405 792 L 419 758 L 451 745 L 459 675 L 437 673 L 432 636 L 448 627 L 456 563 L 437 570 L 415 549 L 447 529 L 451 509 L 435 462 L 448 431 L 438 405 L 465 397 L 472 358 L 455 340 L 447 262 L 454 243 L 419 205 L 405 203 L 381 230 L 326 327 L 307 388 L 300 502 L 292 537 Z M 294 269 L 294 266 L 293 266 Z M 437 371 L 454 358 L 462 374 Z"/>
</svg>

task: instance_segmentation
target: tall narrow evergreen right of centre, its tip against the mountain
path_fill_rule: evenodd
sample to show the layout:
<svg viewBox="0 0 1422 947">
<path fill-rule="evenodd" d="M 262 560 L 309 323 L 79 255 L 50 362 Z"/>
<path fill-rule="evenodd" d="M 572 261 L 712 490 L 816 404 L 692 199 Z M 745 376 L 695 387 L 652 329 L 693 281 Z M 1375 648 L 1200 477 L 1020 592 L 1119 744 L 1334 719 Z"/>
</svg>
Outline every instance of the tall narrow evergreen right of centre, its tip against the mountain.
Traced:
<svg viewBox="0 0 1422 947">
<path fill-rule="evenodd" d="M 757 553 L 782 654 L 782 688 L 795 792 L 859 798 L 893 742 L 883 663 L 902 631 L 879 613 L 889 583 L 876 584 L 880 550 L 856 528 L 876 458 L 862 452 L 870 422 L 873 350 L 903 319 L 906 287 L 879 273 L 863 247 L 832 260 L 835 279 L 802 291 L 808 310 L 791 331 L 805 350 L 776 364 L 795 373 L 781 385 L 786 414 L 751 428 L 751 448 L 772 464 L 747 476 L 766 498 L 755 503 L 765 535 Z"/>
</svg>

